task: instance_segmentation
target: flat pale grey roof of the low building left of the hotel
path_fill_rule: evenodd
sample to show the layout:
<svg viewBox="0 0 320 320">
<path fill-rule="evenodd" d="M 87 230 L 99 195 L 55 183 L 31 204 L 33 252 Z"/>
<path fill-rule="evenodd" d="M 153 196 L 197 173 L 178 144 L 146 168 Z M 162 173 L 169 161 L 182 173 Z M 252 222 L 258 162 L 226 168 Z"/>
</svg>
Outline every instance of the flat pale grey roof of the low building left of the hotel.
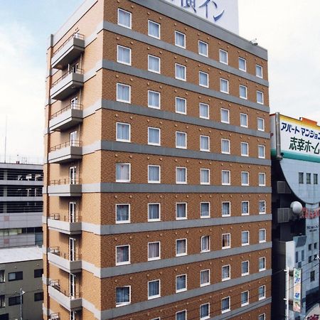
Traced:
<svg viewBox="0 0 320 320">
<path fill-rule="evenodd" d="M 28 260 L 41 260 L 41 247 L 13 247 L 7 249 L 0 249 L 0 264 L 21 262 Z"/>
</svg>

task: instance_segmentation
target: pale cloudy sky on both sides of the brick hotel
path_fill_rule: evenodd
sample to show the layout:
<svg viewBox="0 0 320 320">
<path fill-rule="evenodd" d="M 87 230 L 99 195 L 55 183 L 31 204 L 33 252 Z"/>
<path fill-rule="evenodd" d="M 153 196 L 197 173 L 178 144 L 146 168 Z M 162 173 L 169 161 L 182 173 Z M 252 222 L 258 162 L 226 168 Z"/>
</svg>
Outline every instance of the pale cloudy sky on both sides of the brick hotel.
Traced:
<svg viewBox="0 0 320 320">
<path fill-rule="evenodd" d="M 0 0 L 0 156 L 6 117 L 7 154 L 42 156 L 47 38 L 81 3 Z M 271 112 L 320 123 L 319 1 L 239 0 L 239 9 L 240 36 L 269 52 Z"/>
</svg>

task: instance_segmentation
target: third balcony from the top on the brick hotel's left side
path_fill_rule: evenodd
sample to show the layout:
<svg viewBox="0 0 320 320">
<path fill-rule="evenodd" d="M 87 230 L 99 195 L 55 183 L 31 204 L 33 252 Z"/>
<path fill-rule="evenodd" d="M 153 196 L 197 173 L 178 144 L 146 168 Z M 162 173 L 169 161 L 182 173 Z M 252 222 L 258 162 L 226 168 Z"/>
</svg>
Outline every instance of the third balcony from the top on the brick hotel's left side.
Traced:
<svg viewBox="0 0 320 320">
<path fill-rule="evenodd" d="M 55 112 L 50 119 L 50 131 L 63 131 L 82 123 L 82 105 L 72 103 Z"/>
</svg>

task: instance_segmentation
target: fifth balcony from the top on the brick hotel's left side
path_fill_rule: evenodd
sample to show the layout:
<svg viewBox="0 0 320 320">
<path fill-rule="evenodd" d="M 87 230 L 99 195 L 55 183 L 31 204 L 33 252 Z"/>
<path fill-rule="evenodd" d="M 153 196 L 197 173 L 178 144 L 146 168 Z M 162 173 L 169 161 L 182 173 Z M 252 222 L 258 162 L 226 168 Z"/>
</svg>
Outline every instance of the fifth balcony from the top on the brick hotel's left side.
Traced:
<svg viewBox="0 0 320 320">
<path fill-rule="evenodd" d="M 80 197 L 82 196 L 82 185 L 79 178 L 64 178 L 50 181 L 48 186 L 49 196 Z"/>
</svg>

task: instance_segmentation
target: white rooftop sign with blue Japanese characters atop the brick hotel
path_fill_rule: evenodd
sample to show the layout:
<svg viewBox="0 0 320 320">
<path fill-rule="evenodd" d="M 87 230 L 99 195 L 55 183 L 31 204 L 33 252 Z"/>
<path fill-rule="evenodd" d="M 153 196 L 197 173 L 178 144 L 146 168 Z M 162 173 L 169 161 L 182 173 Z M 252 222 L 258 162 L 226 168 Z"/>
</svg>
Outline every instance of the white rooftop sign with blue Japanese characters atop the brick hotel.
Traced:
<svg viewBox="0 0 320 320">
<path fill-rule="evenodd" d="M 239 34 L 238 0 L 165 0 Z"/>
</svg>

